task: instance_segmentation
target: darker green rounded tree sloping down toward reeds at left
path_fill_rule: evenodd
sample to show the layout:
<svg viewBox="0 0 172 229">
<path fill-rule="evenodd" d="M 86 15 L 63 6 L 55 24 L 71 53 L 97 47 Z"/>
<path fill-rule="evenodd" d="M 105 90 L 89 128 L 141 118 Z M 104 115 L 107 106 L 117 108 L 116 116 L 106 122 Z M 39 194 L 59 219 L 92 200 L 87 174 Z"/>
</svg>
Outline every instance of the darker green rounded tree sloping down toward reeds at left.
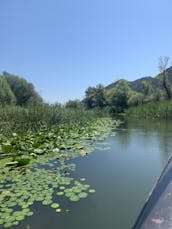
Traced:
<svg viewBox="0 0 172 229">
<path fill-rule="evenodd" d="M 39 105 L 42 98 L 35 91 L 33 84 L 28 83 L 25 79 L 18 76 L 3 72 L 2 78 L 5 79 L 14 93 L 17 105 Z"/>
</svg>

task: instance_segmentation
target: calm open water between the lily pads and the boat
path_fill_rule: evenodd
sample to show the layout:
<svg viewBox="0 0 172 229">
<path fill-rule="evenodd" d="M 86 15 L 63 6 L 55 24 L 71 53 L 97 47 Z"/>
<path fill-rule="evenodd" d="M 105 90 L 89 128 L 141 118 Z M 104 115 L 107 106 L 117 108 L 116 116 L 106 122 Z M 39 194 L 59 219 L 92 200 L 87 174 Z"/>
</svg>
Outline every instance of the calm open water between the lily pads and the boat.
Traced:
<svg viewBox="0 0 172 229">
<path fill-rule="evenodd" d="M 172 153 L 172 122 L 130 121 L 106 142 L 111 150 L 74 160 L 72 176 L 85 177 L 96 193 L 78 202 L 60 197 L 68 209 L 60 214 L 35 204 L 17 228 L 130 229 Z"/>
</svg>

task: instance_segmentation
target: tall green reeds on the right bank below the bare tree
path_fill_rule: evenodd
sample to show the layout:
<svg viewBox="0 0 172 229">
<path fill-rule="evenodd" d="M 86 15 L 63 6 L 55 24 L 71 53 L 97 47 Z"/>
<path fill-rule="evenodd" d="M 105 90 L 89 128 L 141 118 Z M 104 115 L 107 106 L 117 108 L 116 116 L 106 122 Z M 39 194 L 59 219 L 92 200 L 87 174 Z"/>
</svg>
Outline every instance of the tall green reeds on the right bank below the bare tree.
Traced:
<svg viewBox="0 0 172 229">
<path fill-rule="evenodd" d="M 151 102 L 131 107 L 125 111 L 125 114 L 133 118 L 171 119 L 172 101 Z"/>
</svg>

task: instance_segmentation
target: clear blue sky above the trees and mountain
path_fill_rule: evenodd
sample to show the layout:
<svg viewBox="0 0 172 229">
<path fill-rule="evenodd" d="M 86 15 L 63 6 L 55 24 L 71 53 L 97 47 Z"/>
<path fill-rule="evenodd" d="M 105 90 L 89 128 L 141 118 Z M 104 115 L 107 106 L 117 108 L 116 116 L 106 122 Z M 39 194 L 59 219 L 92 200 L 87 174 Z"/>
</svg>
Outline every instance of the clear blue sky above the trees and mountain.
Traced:
<svg viewBox="0 0 172 229">
<path fill-rule="evenodd" d="M 172 0 L 0 0 L 0 72 L 49 102 L 158 73 L 171 57 Z"/>
</svg>

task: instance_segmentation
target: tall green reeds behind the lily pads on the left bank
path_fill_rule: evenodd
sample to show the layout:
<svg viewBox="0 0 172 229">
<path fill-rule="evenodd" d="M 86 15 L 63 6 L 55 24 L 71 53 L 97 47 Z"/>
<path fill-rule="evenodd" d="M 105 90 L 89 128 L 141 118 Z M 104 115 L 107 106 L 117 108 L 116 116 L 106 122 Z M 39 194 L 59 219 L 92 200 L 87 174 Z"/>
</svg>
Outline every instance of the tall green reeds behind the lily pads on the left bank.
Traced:
<svg viewBox="0 0 172 229">
<path fill-rule="evenodd" d="M 0 108 L 0 131 L 3 134 L 37 131 L 62 123 L 84 123 L 100 115 L 98 110 L 71 109 L 60 105 L 5 106 Z"/>
</svg>

